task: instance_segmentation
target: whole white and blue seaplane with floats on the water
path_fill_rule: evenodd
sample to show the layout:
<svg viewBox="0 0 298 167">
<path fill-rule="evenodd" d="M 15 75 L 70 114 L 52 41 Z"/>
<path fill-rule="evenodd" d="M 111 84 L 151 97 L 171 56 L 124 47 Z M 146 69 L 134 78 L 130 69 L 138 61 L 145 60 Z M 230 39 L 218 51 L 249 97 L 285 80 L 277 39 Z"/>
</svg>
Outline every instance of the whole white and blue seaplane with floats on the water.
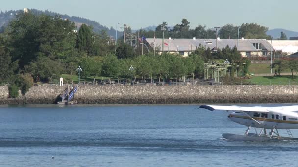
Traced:
<svg viewBox="0 0 298 167">
<path fill-rule="evenodd" d="M 298 140 L 294 138 L 290 129 L 298 129 L 298 105 L 278 107 L 244 107 L 244 106 L 220 106 L 201 105 L 199 108 L 210 111 L 231 111 L 228 118 L 248 129 L 244 135 L 231 133 L 222 134 L 225 139 L 236 141 L 270 141 L 270 140 Z M 249 133 L 251 128 L 255 133 Z M 260 128 L 260 131 L 257 131 Z M 269 133 L 267 130 L 269 129 Z M 278 130 L 286 130 L 289 137 L 282 137 Z"/>
</svg>

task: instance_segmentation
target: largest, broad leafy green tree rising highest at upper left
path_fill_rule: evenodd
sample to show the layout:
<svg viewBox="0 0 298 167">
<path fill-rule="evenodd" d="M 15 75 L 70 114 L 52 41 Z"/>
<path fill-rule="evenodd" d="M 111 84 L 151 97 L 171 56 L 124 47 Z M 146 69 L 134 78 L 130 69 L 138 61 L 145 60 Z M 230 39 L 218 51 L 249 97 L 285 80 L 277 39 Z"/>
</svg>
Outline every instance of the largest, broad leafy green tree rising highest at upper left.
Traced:
<svg viewBox="0 0 298 167">
<path fill-rule="evenodd" d="M 59 59 L 70 56 L 75 46 L 75 24 L 60 17 L 20 13 L 5 34 L 12 61 L 19 60 L 20 70 L 38 56 Z"/>
</svg>

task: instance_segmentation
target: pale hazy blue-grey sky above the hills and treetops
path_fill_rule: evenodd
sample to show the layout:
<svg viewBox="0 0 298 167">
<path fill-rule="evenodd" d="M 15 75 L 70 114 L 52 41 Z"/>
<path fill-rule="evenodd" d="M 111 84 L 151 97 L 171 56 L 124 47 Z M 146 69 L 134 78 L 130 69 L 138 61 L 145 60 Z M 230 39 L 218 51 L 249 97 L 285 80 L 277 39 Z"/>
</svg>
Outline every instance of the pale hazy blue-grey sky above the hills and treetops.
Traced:
<svg viewBox="0 0 298 167">
<path fill-rule="evenodd" d="M 84 17 L 107 27 L 169 25 L 186 18 L 194 28 L 255 22 L 298 31 L 298 0 L 2 0 L 0 10 L 35 8 Z"/>
</svg>

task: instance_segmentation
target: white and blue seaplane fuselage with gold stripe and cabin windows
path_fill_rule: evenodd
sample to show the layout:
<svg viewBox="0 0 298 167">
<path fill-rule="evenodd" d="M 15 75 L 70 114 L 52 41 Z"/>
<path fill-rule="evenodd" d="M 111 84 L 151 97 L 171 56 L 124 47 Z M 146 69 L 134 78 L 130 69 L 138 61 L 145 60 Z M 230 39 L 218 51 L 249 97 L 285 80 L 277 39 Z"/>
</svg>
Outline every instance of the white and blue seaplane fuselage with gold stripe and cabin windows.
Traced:
<svg viewBox="0 0 298 167">
<path fill-rule="evenodd" d="M 228 118 L 238 124 L 257 128 L 298 129 L 298 113 L 295 111 L 237 111 L 229 114 Z"/>
</svg>

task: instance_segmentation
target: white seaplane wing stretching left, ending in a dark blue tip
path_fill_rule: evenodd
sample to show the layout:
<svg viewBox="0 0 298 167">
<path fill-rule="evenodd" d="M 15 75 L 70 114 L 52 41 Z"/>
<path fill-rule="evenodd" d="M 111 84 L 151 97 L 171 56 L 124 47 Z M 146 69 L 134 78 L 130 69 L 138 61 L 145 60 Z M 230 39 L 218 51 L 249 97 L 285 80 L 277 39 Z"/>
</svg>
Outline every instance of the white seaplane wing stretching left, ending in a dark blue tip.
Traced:
<svg viewBox="0 0 298 167">
<path fill-rule="evenodd" d="M 254 112 L 269 112 L 272 107 L 241 107 L 241 106 L 223 106 L 223 105 L 201 105 L 199 108 L 204 108 L 210 111 L 225 110 L 225 111 L 254 111 Z"/>
</svg>

